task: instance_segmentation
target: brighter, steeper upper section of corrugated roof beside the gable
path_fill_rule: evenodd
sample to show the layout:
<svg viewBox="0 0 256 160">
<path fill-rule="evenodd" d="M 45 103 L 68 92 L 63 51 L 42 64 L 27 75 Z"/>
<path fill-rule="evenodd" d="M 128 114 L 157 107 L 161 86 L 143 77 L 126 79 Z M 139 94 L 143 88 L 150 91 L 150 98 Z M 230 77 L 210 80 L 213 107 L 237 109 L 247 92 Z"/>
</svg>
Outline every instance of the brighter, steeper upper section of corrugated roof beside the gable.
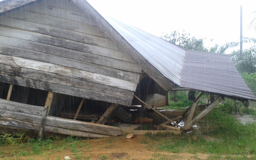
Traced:
<svg viewBox="0 0 256 160">
<path fill-rule="evenodd" d="M 180 85 L 186 50 L 110 17 L 108 23 L 164 77 Z M 172 53 L 172 54 L 170 54 Z"/>
</svg>

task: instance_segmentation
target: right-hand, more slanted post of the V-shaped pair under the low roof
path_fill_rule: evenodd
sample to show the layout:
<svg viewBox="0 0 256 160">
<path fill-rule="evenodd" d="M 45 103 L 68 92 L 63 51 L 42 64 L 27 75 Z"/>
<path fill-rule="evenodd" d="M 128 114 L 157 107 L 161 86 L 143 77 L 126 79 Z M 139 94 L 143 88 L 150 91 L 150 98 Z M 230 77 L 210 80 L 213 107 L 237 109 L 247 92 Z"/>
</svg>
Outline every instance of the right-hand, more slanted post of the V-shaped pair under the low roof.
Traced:
<svg viewBox="0 0 256 160">
<path fill-rule="evenodd" d="M 218 105 L 222 101 L 224 101 L 222 97 L 218 96 L 206 109 L 204 109 L 204 111 L 197 115 L 190 123 L 186 124 L 183 130 L 191 128 L 194 124 L 196 124 L 196 122 L 202 119 L 207 113 L 209 113 L 214 107 L 216 107 L 216 105 Z"/>
</svg>

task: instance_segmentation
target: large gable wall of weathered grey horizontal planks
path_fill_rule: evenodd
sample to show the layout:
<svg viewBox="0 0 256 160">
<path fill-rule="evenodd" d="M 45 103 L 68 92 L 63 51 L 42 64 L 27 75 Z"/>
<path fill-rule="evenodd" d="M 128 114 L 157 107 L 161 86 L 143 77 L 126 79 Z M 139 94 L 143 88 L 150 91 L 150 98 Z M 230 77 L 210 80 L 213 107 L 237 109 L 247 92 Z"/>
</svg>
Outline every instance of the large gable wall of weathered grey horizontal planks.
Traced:
<svg viewBox="0 0 256 160">
<path fill-rule="evenodd" d="M 141 74 L 90 16 L 68 0 L 0 15 L 0 81 L 130 105 Z"/>
</svg>

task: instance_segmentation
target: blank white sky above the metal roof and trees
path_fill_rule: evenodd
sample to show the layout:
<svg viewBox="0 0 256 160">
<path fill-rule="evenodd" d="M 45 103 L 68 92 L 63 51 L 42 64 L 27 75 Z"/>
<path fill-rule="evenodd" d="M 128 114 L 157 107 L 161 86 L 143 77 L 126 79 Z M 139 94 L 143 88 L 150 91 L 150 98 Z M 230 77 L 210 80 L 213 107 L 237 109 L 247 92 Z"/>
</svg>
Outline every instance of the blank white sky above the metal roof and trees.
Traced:
<svg viewBox="0 0 256 160">
<path fill-rule="evenodd" d="M 112 16 L 160 37 L 162 32 L 185 30 L 196 37 L 212 38 L 215 43 L 240 38 L 240 5 L 243 10 L 243 36 L 256 14 L 256 0 L 87 0 L 100 14 Z"/>
</svg>

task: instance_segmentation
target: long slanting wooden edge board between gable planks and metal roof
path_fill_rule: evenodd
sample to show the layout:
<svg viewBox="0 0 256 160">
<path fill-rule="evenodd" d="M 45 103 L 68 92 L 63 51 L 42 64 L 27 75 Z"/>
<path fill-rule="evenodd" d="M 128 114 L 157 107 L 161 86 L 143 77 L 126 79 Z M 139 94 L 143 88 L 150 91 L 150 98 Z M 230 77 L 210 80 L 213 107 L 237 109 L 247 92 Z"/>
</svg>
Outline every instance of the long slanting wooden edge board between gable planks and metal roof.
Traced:
<svg viewBox="0 0 256 160">
<path fill-rule="evenodd" d="M 135 61 L 142 69 L 158 83 L 164 90 L 170 91 L 173 88 L 172 82 L 164 77 L 154 66 L 152 66 L 128 41 L 126 41 L 104 18 L 101 16 L 86 0 L 72 0 L 74 4 L 82 12 L 90 15 L 98 27 L 103 31 L 107 32 L 108 36 L 112 41 L 118 44 L 120 49 L 130 55 L 130 58 Z"/>
</svg>

